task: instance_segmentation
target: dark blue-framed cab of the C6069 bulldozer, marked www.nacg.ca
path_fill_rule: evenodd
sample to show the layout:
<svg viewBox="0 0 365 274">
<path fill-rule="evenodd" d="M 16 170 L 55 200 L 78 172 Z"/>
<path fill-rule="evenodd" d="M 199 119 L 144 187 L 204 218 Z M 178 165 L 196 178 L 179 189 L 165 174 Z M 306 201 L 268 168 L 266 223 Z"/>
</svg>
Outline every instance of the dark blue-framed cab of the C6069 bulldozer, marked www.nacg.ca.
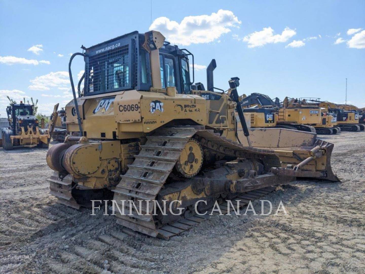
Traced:
<svg viewBox="0 0 365 274">
<path fill-rule="evenodd" d="M 150 33 L 157 36 L 156 32 Z M 176 87 L 178 94 L 189 94 L 192 83 L 188 55 L 191 54 L 165 42 L 163 36 L 152 38 L 154 41 L 144 45 L 145 34 L 134 31 L 84 48 L 84 96 L 123 90 L 149 91 L 153 84 L 157 85 L 152 83 L 153 78 L 160 81 L 157 88 Z M 160 43 L 160 48 L 155 43 Z M 150 64 L 149 51 L 154 49 L 159 49 L 158 64 Z"/>
</svg>

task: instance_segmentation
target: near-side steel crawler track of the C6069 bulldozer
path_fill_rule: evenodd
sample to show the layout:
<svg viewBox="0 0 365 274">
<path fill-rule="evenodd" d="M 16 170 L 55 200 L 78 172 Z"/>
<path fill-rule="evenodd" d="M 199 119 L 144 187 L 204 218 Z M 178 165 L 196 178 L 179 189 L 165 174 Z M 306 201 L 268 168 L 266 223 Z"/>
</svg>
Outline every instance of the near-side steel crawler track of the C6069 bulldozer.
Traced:
<svg viewBox="0 0 365 274">
<path fill-rule="evenodd" d="M 187 219 L 173 222 L 174 226 L 171 224 L 161 226 L 152 216 L 153 200 L 157 200 L 161 189 L 165 189 L 164 184 L 172 173 L 181 151 L 192 137 L 200 141 L 203 149 L 210 149 L 217 154 L 246 159 L 261 156 L 265 159 L 266 165 L 280 167 L 280 161 L 273 151 L 243 146 L 226 137 L 221 137 L 213 130 L 206 130 L 204 126 L 157 130 L 153 135 L 146 137 L 147 142 L 141 146 L 141 151 L 135 155 L 134 162 L 128 165 L 128 171 L 121 176 L 122 180 L 112 190 L 114 191 L 113 199 L 119 208 L 124 209 L 124 212 L 129 212 L 130 209 L 129 204 L 123 203 L 123 200 L 136 201 L 136 209 L 142 212 L 141 215 L 135 211 L 132 211 L 132 215 L 122 215 L 116 211 L 118 224 L 153 237 L 168 239 L 170 236 L 189 229 L 188 226 L 194 225 L 193 222 L 200 222 L 204 219 L 204 217 L 189 216 Z M 242 196 L 242 194 L 238 194 L 238 196 Z M 150 201 L 148 209 L 147 204 L 139 207 L 137 200 Z"/>
</svg>

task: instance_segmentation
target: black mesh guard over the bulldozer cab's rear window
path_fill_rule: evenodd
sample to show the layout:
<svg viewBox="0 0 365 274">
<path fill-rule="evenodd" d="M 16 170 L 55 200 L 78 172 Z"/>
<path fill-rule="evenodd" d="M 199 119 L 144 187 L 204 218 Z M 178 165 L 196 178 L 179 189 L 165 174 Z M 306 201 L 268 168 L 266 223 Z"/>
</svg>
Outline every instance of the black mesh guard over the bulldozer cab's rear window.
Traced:
<svg viewBox="0 0 365 274">
<path fill-rule="evenodd" d="M 130 86 L 129 45 L 90 56 L 87 65 L 88 93 L 103 93 Z"/>
</svg>

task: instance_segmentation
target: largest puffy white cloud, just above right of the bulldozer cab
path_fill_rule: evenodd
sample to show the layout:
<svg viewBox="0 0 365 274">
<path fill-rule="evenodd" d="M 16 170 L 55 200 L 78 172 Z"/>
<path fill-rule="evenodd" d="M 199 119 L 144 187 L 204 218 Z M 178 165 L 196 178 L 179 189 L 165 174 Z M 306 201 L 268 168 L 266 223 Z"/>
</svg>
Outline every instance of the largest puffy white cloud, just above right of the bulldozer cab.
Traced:
<svg viewBox="0 0 365 274">
<path fill-rule="evenodd" d="M 186 16 L 180 23 L 167 17 L 159 17 L 153 21 L 150 30 L 157 30 L 165 35 L 166 41 L 188 46 L 190 44 L 209 43 L 221 35 L 238 27 L 241 21 L 232 11 L 219 9 L 211 15 Z"/>
</svg>

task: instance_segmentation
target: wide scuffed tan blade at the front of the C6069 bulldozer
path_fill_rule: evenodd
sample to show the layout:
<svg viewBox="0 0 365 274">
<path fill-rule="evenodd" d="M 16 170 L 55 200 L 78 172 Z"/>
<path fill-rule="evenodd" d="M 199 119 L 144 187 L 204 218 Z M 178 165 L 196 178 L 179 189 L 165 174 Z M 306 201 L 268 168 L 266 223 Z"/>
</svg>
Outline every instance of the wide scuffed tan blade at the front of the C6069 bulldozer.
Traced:
<svg viewBox="0 0 365 274">
<path fill-rule="evenodd" d="M 313 156 L 312 150 L 319 146 L 323 153 L 322 157 L 314 157 L 307 161 L 306 165 L 300 167 L 300 172 L 296 172 L 296 177 L 339 182 L 331 168 L 331 153 L 334 144 L 316 139 L 316 133 L 276 128 L 249 129 L 249 132 L 252 146 L 272 149 L 279 156 L 283 168 L 295 167 L 308 157 Z M 246 138 L 240 129 L 238 129 L 238 138 L 243 145 L 247 145 Z"/>
</svg>

